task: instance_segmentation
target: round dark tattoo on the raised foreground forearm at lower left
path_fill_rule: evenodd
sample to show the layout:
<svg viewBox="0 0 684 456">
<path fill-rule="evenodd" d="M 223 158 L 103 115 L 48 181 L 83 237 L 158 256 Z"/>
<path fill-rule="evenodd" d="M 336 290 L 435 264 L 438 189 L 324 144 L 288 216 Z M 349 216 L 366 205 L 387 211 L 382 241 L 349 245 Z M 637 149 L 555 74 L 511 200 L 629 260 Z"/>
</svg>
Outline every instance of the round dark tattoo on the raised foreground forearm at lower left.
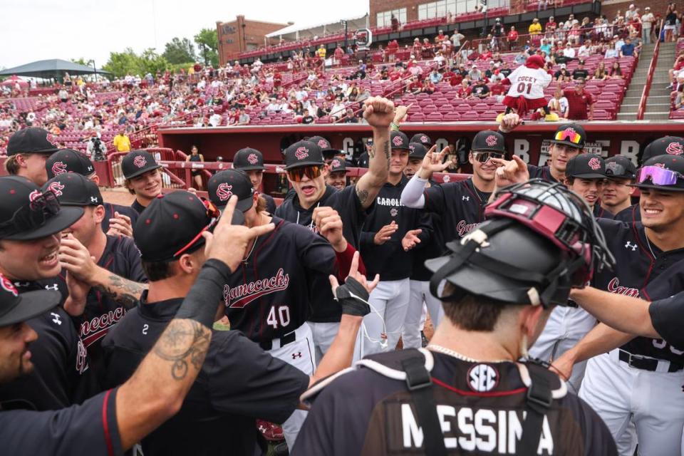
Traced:
<svg viewBox="0 0 684 456">
<path fill-rule="evenodd" d="M 212 331 L 195 320 L 172 320 L 166 327 L 152 351 L 165 361 L 170 361 L 171 376 L 182 380 L 188 371 L 187 363 L 199 371 L 207 355 Z"/>
</svg>

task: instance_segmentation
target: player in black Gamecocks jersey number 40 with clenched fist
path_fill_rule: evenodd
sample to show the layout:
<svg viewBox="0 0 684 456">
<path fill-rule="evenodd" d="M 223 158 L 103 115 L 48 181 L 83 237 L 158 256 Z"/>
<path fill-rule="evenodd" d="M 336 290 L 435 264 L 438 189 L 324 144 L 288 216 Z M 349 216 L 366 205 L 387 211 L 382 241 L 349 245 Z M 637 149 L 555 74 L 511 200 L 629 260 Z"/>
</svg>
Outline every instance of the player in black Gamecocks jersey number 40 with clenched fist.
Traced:
<svg viewBox="0 0 684 456">
<path fill-rule="evenodd" d="M 237 195 L 237 209 L 244 212 L 248 227 L 271 222 L 276 225 L 268 237 L 258 237 L 250 244 L 239 268 L 226 282 L 225 315 L 230 327 L 242 331 L 274 358 L 312 375 L 315 348 L 306 320 L 318 304 L 318 296 L 309 284 L 328 280 L 330 274 L 346 276 L 356 252 L 343 237 L 341 217 L 330 207 L 314 210 L 319 236 L 264 212 L 263 200 L 242 172 L 219 172 L 207 187 L 209 197 L 219 207 Z M 284 421 L 288 447 L 294 445 L 304 418 L 306 412 L 296 410 Z"/>
</svg>

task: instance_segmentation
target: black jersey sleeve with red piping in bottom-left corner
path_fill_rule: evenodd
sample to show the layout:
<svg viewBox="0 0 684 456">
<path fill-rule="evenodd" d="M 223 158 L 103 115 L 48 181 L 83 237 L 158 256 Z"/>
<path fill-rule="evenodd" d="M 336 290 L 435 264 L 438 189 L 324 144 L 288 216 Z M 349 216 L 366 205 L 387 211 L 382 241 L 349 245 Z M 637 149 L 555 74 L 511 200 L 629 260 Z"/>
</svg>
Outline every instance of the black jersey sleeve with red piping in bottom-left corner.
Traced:
<svg viewBox="0 0 684 456">
<path fill-rule="evenodd" d="M 123 455 L 116 393 L 60 410 L 0 410 L 0 442 L 13 456 Z"/>
</svg>

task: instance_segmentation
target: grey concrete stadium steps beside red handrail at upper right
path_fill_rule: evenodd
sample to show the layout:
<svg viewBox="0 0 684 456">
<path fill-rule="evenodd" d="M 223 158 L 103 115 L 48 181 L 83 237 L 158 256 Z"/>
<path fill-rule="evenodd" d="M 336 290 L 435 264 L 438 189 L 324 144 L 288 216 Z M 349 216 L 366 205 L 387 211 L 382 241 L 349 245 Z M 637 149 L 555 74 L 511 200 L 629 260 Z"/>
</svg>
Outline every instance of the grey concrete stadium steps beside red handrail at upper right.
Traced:
<svg viewBox="0 0 684 456">
<path fill-rule="evenodd" d="M 658 62 L 653 73 L 651 90 L 646 100 L 646 113 L 643 120 L 667 120 L 670 118 L 670 89 L 665 88 L 670 83 L 668 70 L 675 61 L 676 43 L 660 43 Z M 618 120 L 636 120 L 636 114 L 641 101 L 643 86 L 648 77 L 648 66 L 651 65 L 655 43 L 643 46 L 639 63 L 634 71 L 634 76 L 625 94 Z"/>
</svg>

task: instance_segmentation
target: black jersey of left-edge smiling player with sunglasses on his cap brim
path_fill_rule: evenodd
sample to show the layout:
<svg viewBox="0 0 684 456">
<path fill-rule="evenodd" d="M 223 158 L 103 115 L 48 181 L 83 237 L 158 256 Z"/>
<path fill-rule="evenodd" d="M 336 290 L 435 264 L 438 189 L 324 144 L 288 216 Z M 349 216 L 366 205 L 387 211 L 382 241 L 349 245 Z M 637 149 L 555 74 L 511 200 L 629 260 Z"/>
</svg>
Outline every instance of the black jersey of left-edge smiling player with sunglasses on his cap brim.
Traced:
<svg viewBox="0 0 684 456">
<path fill-rule="evenodd" d="M 19 293 L 56 289 L 66 299 L 66 284 L 59 277 L 14 284 Z M 28 320 L 28 326 L 38 333 L 38 340 L 30 345 L 34 368 L 31 373 L 0 385 L 1 408 L 58 410 L 81 403 L 99 391 L 89 368 L 86 347 L 61 304 Z"/>
</svg>

